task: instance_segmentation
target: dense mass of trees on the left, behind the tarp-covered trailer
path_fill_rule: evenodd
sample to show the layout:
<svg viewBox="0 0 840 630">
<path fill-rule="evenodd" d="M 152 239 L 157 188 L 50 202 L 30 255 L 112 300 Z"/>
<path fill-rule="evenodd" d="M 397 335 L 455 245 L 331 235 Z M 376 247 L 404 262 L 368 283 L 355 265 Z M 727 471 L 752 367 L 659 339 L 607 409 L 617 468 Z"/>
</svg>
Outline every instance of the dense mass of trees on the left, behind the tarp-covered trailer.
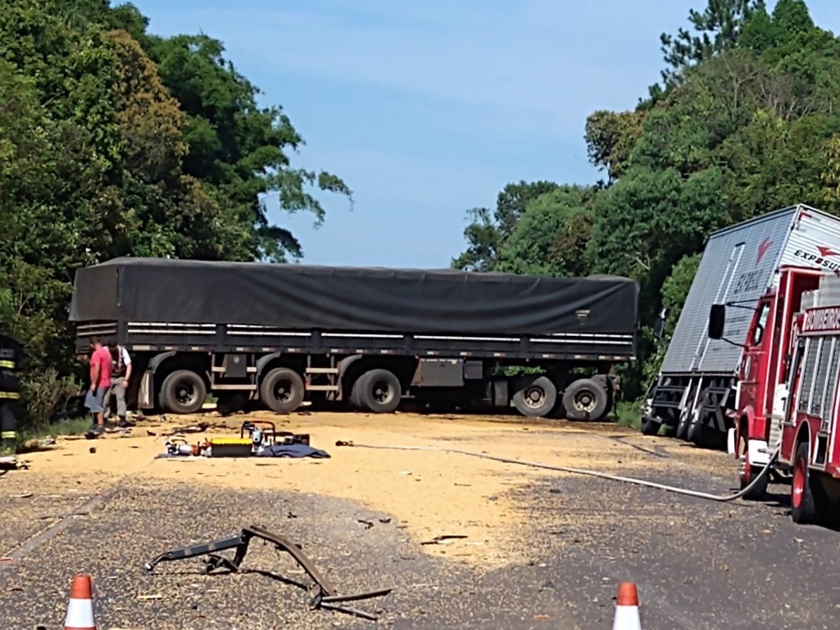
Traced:
<svg viewBox="0 0 840 630">
<path fill-rule="evenodd" d="M 301 136 L 258 105 L 218 41 L 155 37 L 137 9 L 107 0 L 0 8 L 0 316 L 29 350 L 30 382 L 76 365 L 78 267 L 296 258 L 262 198 L 321 221 L 313 191 L 349 197 L 338 177 L 291 166 Z"/>
</svg>

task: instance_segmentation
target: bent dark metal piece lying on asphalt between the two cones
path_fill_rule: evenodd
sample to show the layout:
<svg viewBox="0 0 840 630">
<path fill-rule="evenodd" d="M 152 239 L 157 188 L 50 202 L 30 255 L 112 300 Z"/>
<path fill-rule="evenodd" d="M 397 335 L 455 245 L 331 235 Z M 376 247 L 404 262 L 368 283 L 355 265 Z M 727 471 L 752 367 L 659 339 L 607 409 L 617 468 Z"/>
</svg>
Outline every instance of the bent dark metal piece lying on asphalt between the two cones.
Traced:
<svg viewBox="0 0 840 630">
<path fill-rule="evenodd" d="M 216 540 L 212 543 L 197 544 L 191 545 L 190 547 L 172 549 L 164 554 L 160 554 L 151 562 L 144 564 L 144 568 L 145 570 L 151 572 L 160 562 L 183 560 L 206 555 L 207 562 L 204 565 L 205 575 L 217 569 L 227 569 L 231 573 L 235 573 L 240 570 L 240 565 L 244 560 L 245 554 L 248 552 L 248 545 L 253 538 L 261 538 L 268 543 L 272 543 L 277 551 L 285 551 L 290 554 L 291 557 L 297 561 L 297 564 L 300 564 L 302 569 L 307 572 L 312 580 L 314 580 L 315 585 L 313 585 L 312 589 L 309 589 L 310 592 L 314 592 L 314 596 L 312 596 L 312 600 L 309 602 L 312 610 L 323 608 L 325 610 L 336 612 L 346 612 L 370 621 L 376 621 L 379 618 L 370 612 L 365 612 L 350 606 L 344 606 L 343 604 L 347 601 L 360 601 L 371 599 L 373 597 L 386 596 L 391 593 L 392 589 L 382 589 L 380 591 L 370 591 L 354 595 L 339 595 L 333 586 L 330 585 L 328 581 L 324 579 L 323 575 L 320 574 L 315 565 L 312 564 L 312 560 L 303 554 L 296 543 L 292 543 L 291 540 L 284 536 L 270 533 L 255 525 L 252 525 L 249 528 L 243 528 L 239 534 L 231 536 L 230 538 L 222 538 L 221 540 Z M 224 551 L 225 549 L 236 549 L 233 559 L 228 559 L 213 553 Z"/>
</svg>

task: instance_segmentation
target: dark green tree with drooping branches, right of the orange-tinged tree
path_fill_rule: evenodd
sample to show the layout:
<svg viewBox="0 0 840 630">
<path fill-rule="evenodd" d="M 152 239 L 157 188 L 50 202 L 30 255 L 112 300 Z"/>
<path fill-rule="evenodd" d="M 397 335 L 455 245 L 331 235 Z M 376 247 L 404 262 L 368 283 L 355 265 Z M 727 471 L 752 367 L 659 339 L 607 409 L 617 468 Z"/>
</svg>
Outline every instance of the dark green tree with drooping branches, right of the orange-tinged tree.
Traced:
<svg viewBox="0 0 840 630">
<path fill-rule="evenodd" d="M 323 221 L 321 202 L 309 188 L 351 197 L 349 187 L 326 171 L 291 167 L 287 154 L 303 139 L 279 107 L 260 108 L 259 91 L 224 56 L 217 39 L 207 35 L 150 38 L 160 77 L 186 113 L 184 171 L 207 190 L 228 223 L 251 225 L 252 242 L 235 258 L 299 258 L 297 239 L 271 225 L 263 197 L 271 195 L 290 213 L 307 211 Z M 202 257 L 217 257 L 204 249 Z"/>
</svg>

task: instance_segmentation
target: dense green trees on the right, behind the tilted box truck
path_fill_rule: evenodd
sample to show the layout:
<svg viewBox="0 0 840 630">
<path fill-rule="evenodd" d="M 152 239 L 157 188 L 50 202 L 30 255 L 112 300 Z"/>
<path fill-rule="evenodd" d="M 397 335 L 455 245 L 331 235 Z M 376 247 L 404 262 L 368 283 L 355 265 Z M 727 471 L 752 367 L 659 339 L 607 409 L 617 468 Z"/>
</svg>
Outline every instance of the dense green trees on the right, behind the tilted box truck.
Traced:
<svg viewBox="0 0 840 630">
<path fill-rule="evenodd" d="M 840 213 L 840 39 L 802 0 L 709 0 L 692 29 L 663 35 L 663 82 L 632 112 L 593 113 L 585 137 L 606 181 L 521 181 L 495 212 L 470 211 L 453 265 L 555 276 L 613 273 L 642 287 L 637 396 L 666 344 L 711 230 L 807 203 Z M 515 193 L 516 212 L 507 208 Z M 511 219 L 515 218 L 514 222 Z"/>
</svg>

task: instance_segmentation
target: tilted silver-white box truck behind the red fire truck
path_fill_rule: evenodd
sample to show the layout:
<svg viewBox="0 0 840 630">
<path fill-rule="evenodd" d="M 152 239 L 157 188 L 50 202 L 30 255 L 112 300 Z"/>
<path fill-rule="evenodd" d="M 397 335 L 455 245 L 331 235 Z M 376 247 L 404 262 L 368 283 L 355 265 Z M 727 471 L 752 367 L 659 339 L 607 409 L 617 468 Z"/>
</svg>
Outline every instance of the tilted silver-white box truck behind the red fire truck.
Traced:
<svg viewBox="0 0 840 630">
<path fill-rule="evenodd" d="M 664 424 L 678 438 L 725 444 L 737 408 L 741 344 L 759 297 L 778 285 L 782 265 L 840 273 L 840 218 L 797 205 L 711 234 L 648 391 L 643 433 Z M 713 304 L 729 307 L 724 339 L 708 335 Z"/>
</svg>

